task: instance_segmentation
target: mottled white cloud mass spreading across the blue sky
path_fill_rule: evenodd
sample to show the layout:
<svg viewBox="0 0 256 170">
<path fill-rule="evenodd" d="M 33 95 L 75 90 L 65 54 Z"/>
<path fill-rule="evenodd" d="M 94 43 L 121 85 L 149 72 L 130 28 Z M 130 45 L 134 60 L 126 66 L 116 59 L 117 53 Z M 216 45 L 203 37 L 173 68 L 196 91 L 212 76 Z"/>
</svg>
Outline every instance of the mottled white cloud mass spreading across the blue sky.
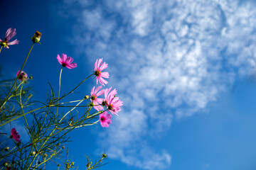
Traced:
<svg viewBox="0 0 256 170">
<path fill-rule="evenodd" d="M 126 164 L 168 167 L 171 155 L 144 137 L 164 132 L 173 118 L 204 111 L 236 77 L 255 73 L 256 10 L 250 1 L 66 3 L 82 6 L 74 26 L 78 51 L 104 55 L 110 84 L 124 100 L 124 111 L 102 137 L 110 157 Z"/>
</svg>

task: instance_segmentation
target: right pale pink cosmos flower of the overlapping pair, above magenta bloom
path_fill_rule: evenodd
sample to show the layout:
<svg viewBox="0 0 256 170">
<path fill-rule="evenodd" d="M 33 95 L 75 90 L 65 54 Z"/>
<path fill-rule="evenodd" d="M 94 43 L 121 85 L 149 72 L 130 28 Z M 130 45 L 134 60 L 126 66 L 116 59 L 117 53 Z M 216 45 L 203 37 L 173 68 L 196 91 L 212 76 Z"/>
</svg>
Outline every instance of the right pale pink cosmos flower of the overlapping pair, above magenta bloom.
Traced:
<svg viewBox="0 0 256 170">
<path fill-rule="evenodd" d="M 110 89 L 105 90 L 105 99 L 102 101 L 102 105 L 107 106 L 107 110 L 110 111 L 110 113 L 117 115 L 119 111 L 121 111 L 121 106 L 123 106 L 123 102 L 119 100 L 117 96 L 117 90 L 113 89 L 111 91 L 112 87 Z"/>
</svg>

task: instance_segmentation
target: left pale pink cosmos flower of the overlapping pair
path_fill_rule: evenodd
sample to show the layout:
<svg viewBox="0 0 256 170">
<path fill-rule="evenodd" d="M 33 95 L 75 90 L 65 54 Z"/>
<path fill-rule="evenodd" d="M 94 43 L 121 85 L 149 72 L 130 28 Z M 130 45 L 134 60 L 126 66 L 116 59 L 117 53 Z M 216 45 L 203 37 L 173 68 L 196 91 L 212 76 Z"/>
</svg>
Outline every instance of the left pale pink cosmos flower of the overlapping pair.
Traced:
<svg viewBox="0 0 256 170">
<path fill-rule="evenodd" d="M 90 100 L 94 104 L 93 108 L 95 108 L 97 111 L 102 111 L 103 110 L 103 107 L 100 106 L 100 104 L 102 104 L 103 98 L 98 98 L 98 96 L 104 94 L 105 90 L 99 91 L 100 89 L 102 89 L 102 86 L 98 86 L 96 89 L 95 89 L 95 86 L 94 86 L 92 88 L 91 97 L 90 97 Z"/>
</svg>

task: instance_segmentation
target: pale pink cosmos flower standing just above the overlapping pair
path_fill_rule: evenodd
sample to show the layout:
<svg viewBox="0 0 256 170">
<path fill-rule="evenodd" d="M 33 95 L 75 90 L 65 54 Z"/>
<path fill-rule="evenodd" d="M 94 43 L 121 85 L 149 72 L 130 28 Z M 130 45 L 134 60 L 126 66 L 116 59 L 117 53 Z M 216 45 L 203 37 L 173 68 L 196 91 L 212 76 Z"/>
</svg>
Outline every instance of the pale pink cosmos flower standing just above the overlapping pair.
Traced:
<svg viewBox="0 0 256 170">
<path fill-rule="evenodd" d="M 96 76 L 96 84 L 97 81 L 100 81 L 100 84 L 105 86 L 107 84 L 107 81 L 103 78 L 108 79 L 110 77 L 110 74 L 108 72 L 102 72 L 103 69 L 107 68 L 106 62 L 102 63 L 103 59 L 100 59 L 99 61 L 96 60 L 95 62 L 95 76 Z M 102 63 L 102 65 L 100 65 Z"/>
</svg>

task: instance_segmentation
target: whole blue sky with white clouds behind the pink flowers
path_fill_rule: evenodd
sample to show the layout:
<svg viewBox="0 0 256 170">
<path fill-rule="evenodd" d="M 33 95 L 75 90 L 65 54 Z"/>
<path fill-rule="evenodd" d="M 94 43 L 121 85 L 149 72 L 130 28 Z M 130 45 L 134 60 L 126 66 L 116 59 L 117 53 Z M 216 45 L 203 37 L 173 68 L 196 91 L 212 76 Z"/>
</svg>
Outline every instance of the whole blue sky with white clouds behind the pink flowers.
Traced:
<svg viewBox="0 0 256 170">
<path fill-rule="evenodd" d="M 74 57 L 62 89 L 109 64 L 108 87 L 124 107 L 110 128 L 76 130 L 68 147 L 79 169 L 102 150 L 102 169 L 256 168 L 256 10 L 254 1 L 1 1 L 1 38 L 16 28 L 19 45 L 1 52 L 2 74 L 15 76 L 43 33 L 25 71 L 35 98 L 58 86 L 56 57 Z M 74 94 L 89 94 L 95 80 Z M 22 126 L 19 131 L 22 131 Z"/>
</svg>

